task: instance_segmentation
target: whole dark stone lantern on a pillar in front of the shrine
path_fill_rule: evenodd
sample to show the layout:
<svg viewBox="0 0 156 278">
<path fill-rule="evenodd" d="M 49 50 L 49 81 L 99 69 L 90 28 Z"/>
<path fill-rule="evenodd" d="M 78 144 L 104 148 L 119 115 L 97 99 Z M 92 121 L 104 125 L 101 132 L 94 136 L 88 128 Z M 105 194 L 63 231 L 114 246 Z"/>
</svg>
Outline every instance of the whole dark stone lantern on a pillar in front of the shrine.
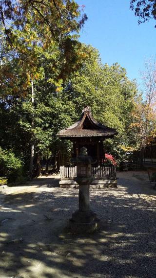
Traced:
<svg viewBox="0 0 156 278">
<path fill-rule="evenodd" d="M 91 175 L 91 163 L 94 163 L 91 156 L 88 156 L 87 149 L 82 147 L 80 155 L 73 160 L 77 165 L 77 177 L 74 179 L 79 185 L 78 210 L 70 219 L 70 228 L 74 232 L 94 232 L 99 227 L 99 220 L 96 213 L 90 210 L 89 187 L 93 181 Z"/>
</svg>

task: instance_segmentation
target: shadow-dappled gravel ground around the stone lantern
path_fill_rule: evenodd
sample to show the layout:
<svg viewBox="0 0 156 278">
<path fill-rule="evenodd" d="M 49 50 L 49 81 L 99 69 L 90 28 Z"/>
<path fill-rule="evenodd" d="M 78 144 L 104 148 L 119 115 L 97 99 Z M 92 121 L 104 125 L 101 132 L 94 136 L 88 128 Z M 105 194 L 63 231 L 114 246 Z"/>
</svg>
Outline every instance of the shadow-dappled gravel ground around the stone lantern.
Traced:
<svg viewBox="0 0 156 278">
<path fill-rule="evenodd" d="M 145 172 L 118 177 L 118 188 L 90 190 L 101 229 L 89 236 L 64 229 L 78 189 L 57 176 L 1 189 L 0 278 L 156 278 L 156 190 Z"/>
</svg>

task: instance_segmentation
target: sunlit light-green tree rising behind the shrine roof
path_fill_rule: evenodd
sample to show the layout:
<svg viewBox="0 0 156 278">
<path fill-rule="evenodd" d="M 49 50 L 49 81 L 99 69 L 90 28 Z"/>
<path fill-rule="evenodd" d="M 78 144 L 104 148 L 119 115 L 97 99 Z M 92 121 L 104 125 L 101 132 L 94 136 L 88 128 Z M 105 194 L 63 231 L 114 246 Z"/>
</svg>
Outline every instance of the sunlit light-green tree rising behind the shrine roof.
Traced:
<svg viewBox="0 0 156 278">
<path fill-rule="evenodd" d="M 107 149 L 109 145 L 109 150 L 117 155 L 120 145 L 136 144 L 130 124 L 137 86 L 135 81 L 127 78 L 126 70 L 120 65 L 102 65 L 98 50 L 91 46 L 88 48 L 90 54 L 83 67 L 73 74 L 62 94 L 73 100 L 75 120 L 88 105 L 98 121 L 117 129 L 118 136 L 107 144 Z"/>
</svg>

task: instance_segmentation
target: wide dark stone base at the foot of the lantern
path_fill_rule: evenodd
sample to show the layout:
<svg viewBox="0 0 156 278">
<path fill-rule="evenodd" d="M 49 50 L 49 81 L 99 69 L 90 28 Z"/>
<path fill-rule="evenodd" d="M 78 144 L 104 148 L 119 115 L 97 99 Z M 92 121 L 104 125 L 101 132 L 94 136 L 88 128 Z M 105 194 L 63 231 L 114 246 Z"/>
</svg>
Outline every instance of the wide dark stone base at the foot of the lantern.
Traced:
<svg viewBox="0 0 156 278">
<path fill-rule="evenodd" d="M 69 229 L 75 233 L 92 233 L 98 231 L 100 221 L 96 213 L 93 211 L 79 211 L 76 210 L 69 220 Z"/>
</svg>

